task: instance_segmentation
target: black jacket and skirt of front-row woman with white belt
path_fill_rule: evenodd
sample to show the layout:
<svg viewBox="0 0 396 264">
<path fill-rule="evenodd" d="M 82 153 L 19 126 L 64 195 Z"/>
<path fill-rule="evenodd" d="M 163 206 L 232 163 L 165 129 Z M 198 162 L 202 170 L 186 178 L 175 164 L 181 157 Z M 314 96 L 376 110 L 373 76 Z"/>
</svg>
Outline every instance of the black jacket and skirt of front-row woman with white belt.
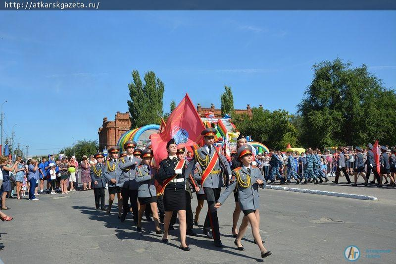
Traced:
<svg viewBox="0 0 396 264">
<path fill-rule="evenodd" d="M 170 159 L 169 157 L 161 160 L 159 162 L 158 178 L 164 181 L 167 178 L 173 177 L 175 175 L 175 167 L 178 158 Z M 165 211 L 179 211 L 186 210 L 186 180 L 185 180 L 185 170 L 183 167 L 183 173 L 177 174 L 174 179 L 183 179 L 180 182 L 169 182 L 164 190 L 163 201 Z"/>
</svg>

